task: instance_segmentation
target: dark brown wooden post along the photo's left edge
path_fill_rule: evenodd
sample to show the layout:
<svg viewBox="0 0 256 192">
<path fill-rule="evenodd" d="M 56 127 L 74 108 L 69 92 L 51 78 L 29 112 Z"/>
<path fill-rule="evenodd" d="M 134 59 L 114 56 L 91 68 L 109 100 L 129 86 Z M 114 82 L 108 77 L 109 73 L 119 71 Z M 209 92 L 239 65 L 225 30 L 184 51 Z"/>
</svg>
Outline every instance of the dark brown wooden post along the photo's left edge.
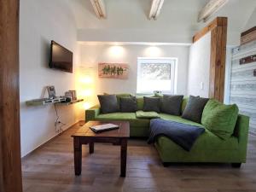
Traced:
<svg viewBox="0 0 256 192">
<path fill-rule="evenodd" d="M 19 0 L 0 0 L 0 191 L 22 192 Z"/>
</svg>

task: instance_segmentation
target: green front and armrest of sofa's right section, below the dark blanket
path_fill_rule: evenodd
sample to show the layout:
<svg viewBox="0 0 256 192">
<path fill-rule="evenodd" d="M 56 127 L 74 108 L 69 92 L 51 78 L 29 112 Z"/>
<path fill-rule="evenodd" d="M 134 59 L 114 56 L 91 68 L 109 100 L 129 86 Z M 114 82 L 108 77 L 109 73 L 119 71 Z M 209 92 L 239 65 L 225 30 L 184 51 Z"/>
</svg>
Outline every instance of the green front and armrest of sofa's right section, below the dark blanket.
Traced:
<svg viewBox="0 0 256 192">
<path fill-rule="evenodd" d="M 227 140 L 206 129 L 189 152 L 167 137 L 159 137 L 155 147 L 163 162 L 244 163 L 247 157 L 248 125 L 249 118 L 238 115 L 235 133 Z"/>
</svg>

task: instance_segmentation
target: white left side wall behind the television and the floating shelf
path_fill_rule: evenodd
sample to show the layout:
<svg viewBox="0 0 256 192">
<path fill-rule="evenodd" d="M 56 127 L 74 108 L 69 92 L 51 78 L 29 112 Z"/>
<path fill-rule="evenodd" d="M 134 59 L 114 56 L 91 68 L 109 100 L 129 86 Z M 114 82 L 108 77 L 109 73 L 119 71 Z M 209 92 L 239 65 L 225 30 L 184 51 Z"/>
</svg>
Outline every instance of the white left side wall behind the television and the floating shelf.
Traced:
<svg viewBox="0 0 256 192">
<path fill-rule="evenodd" d="M 61 0 L 20 1 L 20 126 L 21 155 L 24 156 L 55 136 L 53 105 L 27 107 L 27 100 L 47 96 L 43 88 L 55 85 L 56 94 L 76 87 L 75 74 L 49 69 L 49 44 L 55 40 L 73 51 L 74 68 L 79 62 L 73 15 Z M 57 107 L 61 121 L 73 125 L 83 115 L 79 104 Z"/>
</svg>

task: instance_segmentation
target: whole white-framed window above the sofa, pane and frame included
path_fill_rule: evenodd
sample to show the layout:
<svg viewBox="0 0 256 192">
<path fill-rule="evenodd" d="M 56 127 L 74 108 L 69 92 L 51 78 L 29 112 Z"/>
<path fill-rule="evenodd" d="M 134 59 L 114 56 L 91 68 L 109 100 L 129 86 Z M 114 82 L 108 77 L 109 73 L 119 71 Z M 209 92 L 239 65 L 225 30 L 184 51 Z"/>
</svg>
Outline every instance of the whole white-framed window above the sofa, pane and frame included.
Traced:
<svg viewBox="0 0 256 192">
<path fill-rule="evenodd" d="M 174 93 L 176 58 L 137 59 L 137 93 Z"/>
</svg>

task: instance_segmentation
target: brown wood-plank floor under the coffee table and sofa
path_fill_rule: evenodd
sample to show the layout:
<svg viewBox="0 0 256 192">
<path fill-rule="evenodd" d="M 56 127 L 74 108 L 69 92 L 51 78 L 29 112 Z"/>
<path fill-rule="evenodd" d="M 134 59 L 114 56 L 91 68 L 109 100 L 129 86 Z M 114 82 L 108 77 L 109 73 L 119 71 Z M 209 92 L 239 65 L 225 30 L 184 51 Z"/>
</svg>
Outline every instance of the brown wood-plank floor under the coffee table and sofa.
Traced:
<svg viewBox="0 0 256 192">
<path fill-rule="evenodd" d="M 22 160 L 24 192 L 256 192 L 256 137 L 249 138 L 241 169 L 223 164 L 174 164 L 163 167 L 153 146 L 128 143 L 126 177 L 119 177 L 119 146 L 83 147 L 82 174 L 74 176 L 73 138 L 79 125 Z"/>
</svg>

